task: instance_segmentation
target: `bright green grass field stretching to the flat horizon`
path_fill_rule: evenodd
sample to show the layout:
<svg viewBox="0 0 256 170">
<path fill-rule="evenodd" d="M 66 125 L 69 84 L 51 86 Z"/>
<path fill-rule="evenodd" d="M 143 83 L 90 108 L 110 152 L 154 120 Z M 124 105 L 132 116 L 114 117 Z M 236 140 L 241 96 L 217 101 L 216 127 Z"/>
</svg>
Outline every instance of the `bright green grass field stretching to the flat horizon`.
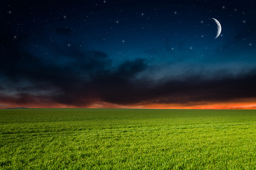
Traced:
<svg viewBox="0 0 256 170">
<path fill-rule="evenodd" d="M 0 110 L 0 169 L 256 169 L 256 110 Z"/>
</svg>

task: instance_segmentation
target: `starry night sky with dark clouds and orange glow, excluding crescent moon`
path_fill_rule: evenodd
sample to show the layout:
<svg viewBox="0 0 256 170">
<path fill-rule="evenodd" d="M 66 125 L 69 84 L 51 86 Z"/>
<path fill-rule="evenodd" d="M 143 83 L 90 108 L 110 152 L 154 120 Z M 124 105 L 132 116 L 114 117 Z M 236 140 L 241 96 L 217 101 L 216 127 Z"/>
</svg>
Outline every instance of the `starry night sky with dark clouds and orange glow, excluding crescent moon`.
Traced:
<svg viewBox="0 0 256 170">
<path fill-rule="evenodd" d="M 1 1 L 0 108 L 256 109 L 255 7 Z"/>
</svg>

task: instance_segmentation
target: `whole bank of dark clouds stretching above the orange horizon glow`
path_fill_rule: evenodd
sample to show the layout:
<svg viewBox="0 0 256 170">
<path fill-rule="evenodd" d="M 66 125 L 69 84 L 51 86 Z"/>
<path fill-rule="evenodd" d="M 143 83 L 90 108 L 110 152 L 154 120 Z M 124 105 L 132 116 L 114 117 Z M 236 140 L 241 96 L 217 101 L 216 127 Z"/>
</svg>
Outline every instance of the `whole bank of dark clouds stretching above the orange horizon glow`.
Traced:
<svg viewBox="0 0 256 170">
<path fill-rule="evenodd" d="M 23 52 L 22 57 L 12 62 L 11 67 L 16 69 L 2 64 L 2 75 L 12 77 L 13 82 L 26 78 L 29 83 L 25 88 L 14 86 L 13 90 L 17 92 L 14 95 L 0 95 L 1 102 L 23 106 L 55 103 L 73 107 L 86 107 L 97 101 L 121 105 L 193 105 L 256 96 L 256 70 L 237 77 L 226 75 L 218 79 L 204 79 L 200 73 L 190 73 L 182 80 L 154 82 L 136 78 L 137 74 L 150 69 L 146 59 L 125 61 L 112 67 L 112 60 L 99 51 L 81 52 L 81 56 L 73 54 L 71 57 L 73 61 L 67 65 L 48 65 Z M 34 94 L 43 90 L 48 90 L 48 93 Z"/>
</svg>

